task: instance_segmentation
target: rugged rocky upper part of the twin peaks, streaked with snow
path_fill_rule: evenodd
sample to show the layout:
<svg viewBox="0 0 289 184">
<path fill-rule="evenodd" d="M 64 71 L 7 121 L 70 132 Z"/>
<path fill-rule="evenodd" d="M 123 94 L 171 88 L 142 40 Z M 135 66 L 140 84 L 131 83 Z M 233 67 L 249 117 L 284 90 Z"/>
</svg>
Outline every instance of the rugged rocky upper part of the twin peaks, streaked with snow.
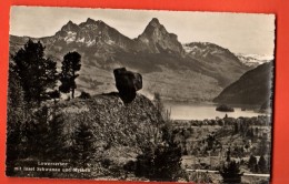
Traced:
<svg viewBox="0 0 289 184">
<path fill-rule="evenodd" d="M 129 39 L 103 21 L 94 21 L 90 18 L 80 24 L 69 21 L 54 37 L 64 40 L 67 43 L 77 42 L 87 47 L 107 43 L 118 45 L 126 51 L 159 53 L 165 50 L 175 54 L 185 53 L 177 35 L 169 33 L 156 18 L 149 22 L 144 31 L 136 39 Z"/>
</svg>

